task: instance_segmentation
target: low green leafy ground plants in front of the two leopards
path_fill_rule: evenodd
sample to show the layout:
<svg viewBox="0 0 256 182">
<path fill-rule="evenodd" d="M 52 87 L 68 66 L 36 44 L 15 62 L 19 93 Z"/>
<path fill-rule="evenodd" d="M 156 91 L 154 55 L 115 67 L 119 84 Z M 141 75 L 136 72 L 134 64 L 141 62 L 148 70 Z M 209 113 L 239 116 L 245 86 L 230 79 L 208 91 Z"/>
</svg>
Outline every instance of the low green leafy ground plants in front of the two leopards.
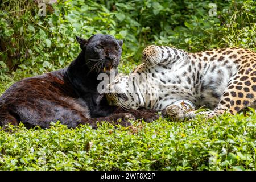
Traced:
<svg viewBox="0 0 256 182">
<path fill-rule="evenodd" d="M 256 114 L 0 132 L 1 170 L 255 170 Z"/>
</svg>

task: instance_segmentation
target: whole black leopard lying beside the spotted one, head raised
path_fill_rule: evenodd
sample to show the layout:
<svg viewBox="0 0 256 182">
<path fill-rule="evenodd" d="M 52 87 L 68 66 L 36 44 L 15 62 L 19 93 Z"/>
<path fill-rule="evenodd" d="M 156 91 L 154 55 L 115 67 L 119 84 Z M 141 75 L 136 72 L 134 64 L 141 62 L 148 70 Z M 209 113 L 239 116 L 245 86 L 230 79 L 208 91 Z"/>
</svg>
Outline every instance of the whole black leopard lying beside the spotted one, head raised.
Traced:
<svg viewBox="0 0 256 182">
<path fill-rule="evenodd" d="M 0 97 L 0 126 L 23 122 L 27 128 L 47 128 L 60 121 L 69 128 L 108 121 L 129 126 L 129 119 L 143 117 L 152 121 L 154 110 L 122 110 L 109 106 L 105 95 L 97 91 L 98 74 L 109 73 L 121 59 L 122 41 L 110 35 L 96 34 L 88 40 L 77 37 L 81 52 L 64 69 L 25 78 L 11 85 Z"/>
</svg>

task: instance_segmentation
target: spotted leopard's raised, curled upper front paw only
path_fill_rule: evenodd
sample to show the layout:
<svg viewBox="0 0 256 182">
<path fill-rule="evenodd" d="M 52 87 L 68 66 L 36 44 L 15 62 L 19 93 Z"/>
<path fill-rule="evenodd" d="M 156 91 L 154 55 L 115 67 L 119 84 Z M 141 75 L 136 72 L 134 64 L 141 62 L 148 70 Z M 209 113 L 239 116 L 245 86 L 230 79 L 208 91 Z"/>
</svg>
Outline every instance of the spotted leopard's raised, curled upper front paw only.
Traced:
<svg viewBox="0 0 256 182">
<path fill-rule="evenodd" d="M 142 52 L 142 61 L 150 67 L 160 63 L 162 59 L 161 51 L 157 46 L 147 46 Z"/>
</svg>

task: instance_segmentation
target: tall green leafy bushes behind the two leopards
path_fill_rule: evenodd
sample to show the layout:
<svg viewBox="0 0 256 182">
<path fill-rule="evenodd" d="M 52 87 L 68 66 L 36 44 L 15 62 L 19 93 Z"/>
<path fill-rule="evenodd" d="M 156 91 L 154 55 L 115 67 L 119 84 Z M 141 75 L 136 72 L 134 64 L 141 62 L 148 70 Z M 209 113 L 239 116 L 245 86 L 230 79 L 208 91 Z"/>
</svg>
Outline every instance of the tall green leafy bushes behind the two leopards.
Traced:
<svg viewBox="0 0 256 182">
<path fill-rule="evenodd" d="M 227 46 L 254 49 L 255 1 L 217 1 L 216 16 L 209 15 L 210 3 L 67 0 L 47 5 L 46 16 L 39 16 L 32 0 L 3 1 L 1 71 L 8 71 L 7 65 L 34 75 L 62 68 L 79 53 L 75 36 L 96 33 L 124 40 L 126 65 L 138 63 L 142 49 L 152 43 L 192 52 Z"/>
</svg>

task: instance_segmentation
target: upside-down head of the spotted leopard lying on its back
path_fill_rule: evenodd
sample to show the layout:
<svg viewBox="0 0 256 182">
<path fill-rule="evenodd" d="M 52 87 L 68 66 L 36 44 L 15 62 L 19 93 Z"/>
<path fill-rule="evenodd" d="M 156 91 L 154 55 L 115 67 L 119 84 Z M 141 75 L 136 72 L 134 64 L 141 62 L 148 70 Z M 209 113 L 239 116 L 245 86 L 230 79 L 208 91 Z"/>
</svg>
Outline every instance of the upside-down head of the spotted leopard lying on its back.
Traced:
<svg viewBox="0 0 256 182">
<path fill-rule="evenodd" d="M 138 109 L 142 107 L 143 96 L 135 81 L 131 77 L 119 74 L 107 86 L 106 98 L 109 105 L 125 109 Z"/>
</svg>

